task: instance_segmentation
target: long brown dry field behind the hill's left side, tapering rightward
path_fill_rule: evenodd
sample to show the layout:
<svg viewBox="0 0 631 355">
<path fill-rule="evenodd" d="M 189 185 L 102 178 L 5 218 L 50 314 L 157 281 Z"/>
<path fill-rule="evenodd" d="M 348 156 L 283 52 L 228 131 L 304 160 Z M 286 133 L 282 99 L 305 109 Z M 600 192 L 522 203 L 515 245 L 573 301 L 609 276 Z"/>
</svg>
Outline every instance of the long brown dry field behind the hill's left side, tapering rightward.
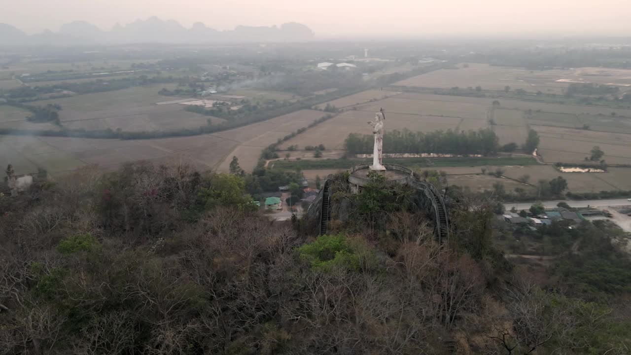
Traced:
<svg viewBox="0 0 631 355">
<path fill-rule="evenodd" d="M 214 135 L 153 140 L 1 136 L 0 166 L 14 164 L 18 174 L 44 167 L 51 176 L 59 176 L 83 165 L 110 170 L 124 162 L 147 160 L 184 162 L 201 170 L 221 166 L 220 171 L 228 171 L 236 155 L 241 166 L 251 171 L 264 147 L 322 116 L 321 111 L 304 110 Z"/>
</svg>

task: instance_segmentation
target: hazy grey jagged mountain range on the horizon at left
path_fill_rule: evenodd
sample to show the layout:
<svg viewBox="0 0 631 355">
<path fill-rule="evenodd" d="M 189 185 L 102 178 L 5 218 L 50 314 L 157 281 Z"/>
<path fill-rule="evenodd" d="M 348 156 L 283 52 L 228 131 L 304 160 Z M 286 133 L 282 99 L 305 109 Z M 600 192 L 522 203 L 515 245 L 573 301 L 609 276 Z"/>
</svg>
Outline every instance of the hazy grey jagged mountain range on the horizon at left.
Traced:
<svg viewBox="0 0 631 355">
<path fill-rule="evenodd" d="M 234 30 L 218 31 L 201 22 L 186 28 L 177 21 L 153 16 L 125 26 L 117 23 L 110 31 L 103 31 L 86 21 L 74 21 L 62 25 L 59 32 L 47 30 L 35 35 L 0 23 L 0 45 L 302 42 L 313 37 L 314 32 L 309 27 L 295 22 L 283 23 L 280 27 L 237 26 Z"/>
</svg>

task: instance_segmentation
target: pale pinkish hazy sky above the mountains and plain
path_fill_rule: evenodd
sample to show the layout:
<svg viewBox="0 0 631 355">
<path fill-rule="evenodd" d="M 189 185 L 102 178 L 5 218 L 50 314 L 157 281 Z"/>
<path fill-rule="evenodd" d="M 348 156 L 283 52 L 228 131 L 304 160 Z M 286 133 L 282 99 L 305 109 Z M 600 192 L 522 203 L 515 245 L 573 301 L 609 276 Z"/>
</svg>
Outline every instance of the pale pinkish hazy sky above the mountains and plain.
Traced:
<svg viewBox="0 0 631 355">
<path fill-rule="evenodd" d="M 304 23 L 319 37 L 437 33 L 593 33 L 631 35 L 631 0 L 0 0 L 0 23 L 29 33 L 86 20 L 158 16 L 190 27 Z"/>
</svg>

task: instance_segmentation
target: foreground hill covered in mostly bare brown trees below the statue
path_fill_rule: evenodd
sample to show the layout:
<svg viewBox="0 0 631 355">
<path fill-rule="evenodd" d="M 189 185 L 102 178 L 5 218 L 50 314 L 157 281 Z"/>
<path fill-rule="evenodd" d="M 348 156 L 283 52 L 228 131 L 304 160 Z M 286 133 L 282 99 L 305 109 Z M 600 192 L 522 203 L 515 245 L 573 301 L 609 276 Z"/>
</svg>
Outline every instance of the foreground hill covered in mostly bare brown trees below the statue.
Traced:
<svg viewBox="0 0 631 355">
<path fill-rule="evenodd" d="M 607 260 L 590 262 L 594 248 L 565 258 L 542 289 L 493 246 L 493 201 L 450 196 L 453 231 L 438 244 L 410 189 L 373 177 L 354 195 L 337 176 L 333 199 L 347 215 L 318 237 L 309 220 L 257 211 L 248 193 L 263 178 L 140 164 L 0 197 L 2 353 L 631 349 L 628 274 L 611 287 L 594 279 L 631 266 L 603 248 L 611 226 L 551 230 L 600 244 Z"/>
</svg>

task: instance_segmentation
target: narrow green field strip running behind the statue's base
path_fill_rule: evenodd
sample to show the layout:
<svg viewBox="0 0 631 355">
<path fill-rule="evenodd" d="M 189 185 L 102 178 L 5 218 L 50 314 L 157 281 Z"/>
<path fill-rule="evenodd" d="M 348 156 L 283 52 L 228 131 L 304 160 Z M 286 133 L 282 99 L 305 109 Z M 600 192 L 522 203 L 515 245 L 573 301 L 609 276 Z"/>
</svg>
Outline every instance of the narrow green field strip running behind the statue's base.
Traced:
<svg viewBox="0 0 631 355">
<path fill-rule="evenodd" d="M 280 169 L 350 169 L 357 164 L 367 164 L 372 159 L 322 159 L 322 160 L 277 160 L 269 165 Z M 457 158 L 389 158 L 386 164 L 420 167 L 462 167 L 485 165 L 537 165 L 532 157 L 457 157 Z"/>
</svg>

